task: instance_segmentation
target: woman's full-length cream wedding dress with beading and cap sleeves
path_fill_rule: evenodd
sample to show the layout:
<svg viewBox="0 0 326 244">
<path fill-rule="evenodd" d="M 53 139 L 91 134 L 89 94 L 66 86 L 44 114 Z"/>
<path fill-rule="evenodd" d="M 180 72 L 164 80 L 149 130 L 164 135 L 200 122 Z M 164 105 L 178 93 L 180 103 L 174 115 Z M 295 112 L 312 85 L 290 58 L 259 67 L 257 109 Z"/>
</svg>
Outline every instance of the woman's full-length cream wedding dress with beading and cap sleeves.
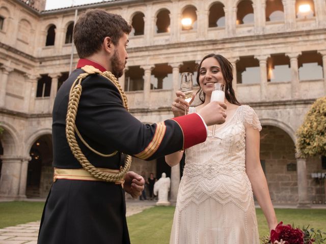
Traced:
<svg viewBox="0 0 326 244">
<path fill-rule="evenodd" d="M 214 138 L 209 132 L 205 142 L 186 149 L 170 244 L 259 244 L 246 126 L 261 130 L 255 111 L 241 105 Z"/>
</svg>

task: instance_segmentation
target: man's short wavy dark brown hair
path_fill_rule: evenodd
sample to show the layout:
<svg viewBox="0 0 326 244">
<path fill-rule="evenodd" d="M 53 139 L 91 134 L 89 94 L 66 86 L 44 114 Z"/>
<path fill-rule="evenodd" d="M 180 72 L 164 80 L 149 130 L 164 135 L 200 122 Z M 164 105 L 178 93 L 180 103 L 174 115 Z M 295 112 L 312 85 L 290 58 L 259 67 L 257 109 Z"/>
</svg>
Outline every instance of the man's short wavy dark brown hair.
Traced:
<svg viewBox="0 0 326 244">
<path fill-rule="evenodd" d="M 131 26 L 118 14 L 102 9 L 92 9 L 80 15 L 73 29 L 73 42 L 78 56 L 85 58 L 98 50 L 105 37 L 110 37 L 117 45 L 124 33 L 131 32 Z"/>
</svg>

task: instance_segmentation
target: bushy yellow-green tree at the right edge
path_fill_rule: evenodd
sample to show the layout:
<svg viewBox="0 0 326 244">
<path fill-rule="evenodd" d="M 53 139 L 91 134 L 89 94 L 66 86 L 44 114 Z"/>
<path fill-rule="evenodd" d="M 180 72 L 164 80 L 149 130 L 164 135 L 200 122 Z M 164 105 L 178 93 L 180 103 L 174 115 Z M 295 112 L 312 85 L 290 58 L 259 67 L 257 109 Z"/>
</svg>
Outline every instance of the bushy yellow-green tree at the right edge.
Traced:
<svg viewBox="0 0 326 244">
<path fill-rule="evenodd" d="M 326 156 L 326 97 L 317 99 L 297 130 L 296 148 L 303 157 Z"/>
</svg>

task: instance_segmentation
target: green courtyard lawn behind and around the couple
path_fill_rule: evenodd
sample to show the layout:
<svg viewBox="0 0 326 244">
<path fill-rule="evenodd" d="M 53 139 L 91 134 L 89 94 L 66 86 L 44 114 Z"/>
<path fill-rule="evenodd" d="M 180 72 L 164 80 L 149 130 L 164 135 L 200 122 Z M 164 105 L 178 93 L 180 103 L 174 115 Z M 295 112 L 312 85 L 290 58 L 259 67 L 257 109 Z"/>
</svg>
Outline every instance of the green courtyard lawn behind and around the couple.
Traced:
<svg viewBox="0 0 326 244">
<path fill-rule="evenodd" d="M 44 202 L 0 202 L 0 228 L 41 219 Z M 169 243 L 174 207 L 156 206 L 127 218 L 131 243 Z M 326 231 L 326 209 L 275 209 L 284 224 L 303 225 Z M 257 209 L 260 236 L 268 234 L 261 209 Z"/>
</svg>

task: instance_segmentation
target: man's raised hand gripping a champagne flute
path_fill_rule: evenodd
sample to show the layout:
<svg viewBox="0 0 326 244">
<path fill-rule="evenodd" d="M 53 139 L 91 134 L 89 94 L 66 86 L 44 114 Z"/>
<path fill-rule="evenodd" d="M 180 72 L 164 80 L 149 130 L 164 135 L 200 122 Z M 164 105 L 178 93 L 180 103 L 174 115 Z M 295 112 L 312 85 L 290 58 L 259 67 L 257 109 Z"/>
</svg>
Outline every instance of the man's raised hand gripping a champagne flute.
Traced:
<svg viewBox="0 0 326 244">
<path fill-rule="evenodd" d="M 225 109 L 225 103 L 213 101 L 200 109 L 198 114 L 202 116 L 207 126 L 220 125 L 225 122 Z"/>
</svg>

